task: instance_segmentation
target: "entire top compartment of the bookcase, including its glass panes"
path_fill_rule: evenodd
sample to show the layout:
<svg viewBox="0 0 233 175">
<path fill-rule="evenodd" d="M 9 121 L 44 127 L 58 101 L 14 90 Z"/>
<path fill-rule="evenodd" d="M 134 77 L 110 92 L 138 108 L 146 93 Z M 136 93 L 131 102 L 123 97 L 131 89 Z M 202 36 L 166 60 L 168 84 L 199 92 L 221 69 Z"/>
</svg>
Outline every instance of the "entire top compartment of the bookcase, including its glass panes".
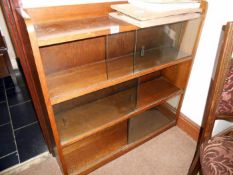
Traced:
<svg viewBox="0 0 233 175">
<path fill-rule="evenodd" d="M 92 91 L 109 80 L 130 79 L 131 75 L 156 67 L 160 70 L 159 66 L 170 66 L 177 59 L 190 56 L 199 24 L 200 19 L 195 19 L 56 45 L 58 60 L 71 61 L 65 66 L 59 63 L 68 67 L 66 70 L 55 66 L 51 73 L 47 72 L 53 102 L 83 95 L 86 89 Z M 63 52 L 66 45 L 70 48 L 69 57 Z M 41 53 L 53 55 L 55 46 L 52 50 L 50 47 L 43 48 Z M 57 61 L 52 57 L 44 60 L 48 61 L 44 63 L 45 67 Z"/>
</svg>

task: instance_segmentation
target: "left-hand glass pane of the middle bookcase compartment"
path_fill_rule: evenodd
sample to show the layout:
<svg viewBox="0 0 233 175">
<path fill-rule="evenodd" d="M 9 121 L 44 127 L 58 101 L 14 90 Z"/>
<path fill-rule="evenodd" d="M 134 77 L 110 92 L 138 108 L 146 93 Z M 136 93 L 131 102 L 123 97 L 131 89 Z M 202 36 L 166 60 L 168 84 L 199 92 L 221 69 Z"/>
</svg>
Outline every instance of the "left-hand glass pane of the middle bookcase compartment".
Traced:
<svg viewBox="0 0 233 175">
<path fill-rule="evenodd" d="M 134 111 L 136 94 L 137 81 L 131 80 L 55 105 L 62 144 L 79 139 Z"/>
</svg>

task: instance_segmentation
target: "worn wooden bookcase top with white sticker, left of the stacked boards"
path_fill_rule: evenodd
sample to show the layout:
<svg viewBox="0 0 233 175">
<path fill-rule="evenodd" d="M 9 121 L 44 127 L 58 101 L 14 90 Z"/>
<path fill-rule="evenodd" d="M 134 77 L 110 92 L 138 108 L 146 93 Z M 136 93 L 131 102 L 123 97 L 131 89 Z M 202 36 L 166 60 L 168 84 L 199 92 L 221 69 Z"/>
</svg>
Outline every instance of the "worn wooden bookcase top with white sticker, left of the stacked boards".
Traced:
<svg viewBox="0 0 233 175">
<path fill-rule="evenodd" d="M 35 25 L 40 47 L 135 30 L 138 27 L 109 16 L 61 20 Z"/>
</svg>

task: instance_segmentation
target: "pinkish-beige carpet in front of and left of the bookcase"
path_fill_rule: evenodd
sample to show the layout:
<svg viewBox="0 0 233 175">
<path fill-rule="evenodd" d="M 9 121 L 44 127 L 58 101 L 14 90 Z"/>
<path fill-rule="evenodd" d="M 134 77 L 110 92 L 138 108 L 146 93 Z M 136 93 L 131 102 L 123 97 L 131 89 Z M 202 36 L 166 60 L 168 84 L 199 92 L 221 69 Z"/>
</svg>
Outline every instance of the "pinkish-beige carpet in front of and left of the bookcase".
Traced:
<svg viewBox="0 0 233 175">
<path fill-rule="evenodd" d="M 89 175 L 187 175 L 195 149 L 196 142 L 175 126 Z M 6 174 L 62 175 L 62 172 L 56 158 L 44 153 Z"/>
</svg>

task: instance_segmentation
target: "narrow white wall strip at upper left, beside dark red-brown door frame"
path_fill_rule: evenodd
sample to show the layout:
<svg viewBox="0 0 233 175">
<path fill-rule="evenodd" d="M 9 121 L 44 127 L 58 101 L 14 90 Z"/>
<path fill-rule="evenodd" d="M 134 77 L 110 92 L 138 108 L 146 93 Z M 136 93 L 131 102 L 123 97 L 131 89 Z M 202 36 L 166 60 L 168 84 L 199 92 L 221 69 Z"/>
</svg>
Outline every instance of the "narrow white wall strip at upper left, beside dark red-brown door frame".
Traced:
<svg viewBox="0 0 233 175">
<path fill-rule="evenodd" d="M 8 30 L 7 30 L 7 26 L 6 26 L 1 8 L 0 8 L 0 30 L 2 32 L 2 35 L 5 37 L 6 45 L 8 47 L 8 54 L 9 54 L 13 69 L 17 69 L 14 48 L 13 48 L 13 45 L 12 45 L 11 40 L 10 40 L 10 36 L 9 36 Z"/>
</svg>

